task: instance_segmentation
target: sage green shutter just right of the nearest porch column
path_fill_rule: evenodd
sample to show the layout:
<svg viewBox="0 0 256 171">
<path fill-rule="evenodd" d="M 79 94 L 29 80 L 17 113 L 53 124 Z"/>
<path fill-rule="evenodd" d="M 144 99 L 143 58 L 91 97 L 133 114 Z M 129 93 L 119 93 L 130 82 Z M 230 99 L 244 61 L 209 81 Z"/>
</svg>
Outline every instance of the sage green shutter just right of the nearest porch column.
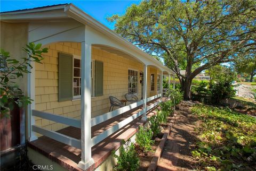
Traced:
<svg viewBox="0 0 256 171">
<path fill-rule="evenodd" d="M 103 95 L 103 62 L 95 61 L 95 96 Z"/>
</svg>

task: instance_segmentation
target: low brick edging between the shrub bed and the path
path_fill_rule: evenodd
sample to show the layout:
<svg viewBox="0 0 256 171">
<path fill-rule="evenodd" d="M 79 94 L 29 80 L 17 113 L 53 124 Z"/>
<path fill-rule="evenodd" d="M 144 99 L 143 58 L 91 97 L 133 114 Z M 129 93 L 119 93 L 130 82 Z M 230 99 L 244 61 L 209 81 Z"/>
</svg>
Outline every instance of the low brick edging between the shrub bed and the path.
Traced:
<svg viewBox="0 0 256 171">
<path fill-rule="evenodd" d="M 172 117 L 172 119 L 170 121 L 171 124 L 167 127 L 167 130 L 165 130 L 163 138 L 161 139 L 161 142 L 159 143 L 159 145 L 158 145 L 158 147 L 156 149 L 155 155 L 152 158 L 147 171 L 155 171 L 156 170 L 158 161 L 159 161 L 159 159 L 160 159 L 160 157 L 162 155 L 162 152 L 164 150 L 165 142 L 167 141 L 167 138 L 168 138 L 168 136 L 169 136 L 169 134 L 171 132 L 172 125 L 174 124 L 176 116 L 177 116 L 177 114 L 173 115 L 173 117 Z"/>
</svg>

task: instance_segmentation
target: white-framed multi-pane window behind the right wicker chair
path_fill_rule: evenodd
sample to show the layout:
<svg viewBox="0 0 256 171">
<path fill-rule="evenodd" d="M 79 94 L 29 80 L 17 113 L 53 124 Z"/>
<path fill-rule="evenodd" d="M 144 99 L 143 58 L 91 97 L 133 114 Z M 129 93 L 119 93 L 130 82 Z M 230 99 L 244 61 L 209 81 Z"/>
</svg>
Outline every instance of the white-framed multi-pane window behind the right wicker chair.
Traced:
<svg viewBox="0 0 256 171">
<path fill-rule="evenodd" d="M 128 70 L 128 93 L 138 93 L 138 71 Z"/>
</svg>

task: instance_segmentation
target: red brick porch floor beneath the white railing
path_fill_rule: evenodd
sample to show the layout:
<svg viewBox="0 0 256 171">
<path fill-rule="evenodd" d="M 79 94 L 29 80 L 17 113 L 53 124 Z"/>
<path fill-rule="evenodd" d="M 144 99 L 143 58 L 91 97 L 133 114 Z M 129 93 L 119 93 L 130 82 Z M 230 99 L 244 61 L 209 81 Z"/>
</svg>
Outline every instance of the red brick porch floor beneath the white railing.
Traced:
<svg viewBox="0 0 256 171">
<path fill-rule="evenodd" d="M 150 101 L 147 103 L 147 105 L 149 106 L 154 102 L 155 101 Z M 155 108 L 147 112 L 147 117 L 150 117 L 156 113 Z M 142 105 L 124 113 L 123 116 L 118 115 L 116 117 L 108 119 L 105 122 L 93 126 L 92 137 L 109 129 L 109 127 L 116 125 L 117 123 L 139 112 L 140 110 L 142 110 Z M 121 129 L 119 129 L 117 132 L 108 136 L 105 140 L 93 146 L 92 158 L 95 164 L 91 166 L 89 170 L 97 168 L 102 163 L 102 161 L 104 161 L 105 159 L 107 159 L 108 156 L 111 155 L 111 151 L 116 150 L 120 147 L 122 140 L 127 140 L 128 138 L 131 138 L 131 136 L 137 132 L 139 125 L 145 123 L 146 122 L 141 121 L 140 116 L 137 119 L 134 119 L 129 124 L 122 127 Z M 81 139 L 81 129 L 77 129 L 76 127 L 69 126 L 65 129 L 59 130 L 58 132 L 76 139 Z M 80 149 L 47 138 L 46 136 L 41 136 L 35 141 L 28 142 L 28 147 L 42 153 L 42 155 L 50 158 L 51 160 L 55 161 L 56 163 L 58 163 L 59 165 L 68 170 L 81 170 L 80 168 L 77 167 L 77 164 L 79 163 L 79 161 L 81 161 Z"/>
</svg>

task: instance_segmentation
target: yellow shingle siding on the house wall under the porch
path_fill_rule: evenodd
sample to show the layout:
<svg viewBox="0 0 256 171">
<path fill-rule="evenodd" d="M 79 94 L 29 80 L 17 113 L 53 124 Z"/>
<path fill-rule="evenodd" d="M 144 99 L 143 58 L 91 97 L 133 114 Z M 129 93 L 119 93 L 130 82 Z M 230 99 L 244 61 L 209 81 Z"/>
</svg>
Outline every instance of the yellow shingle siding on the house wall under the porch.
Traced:
<svg viewBox="0 0 256 171">
<path fill-rule="evenodd" d="M 56 115 L 81 118 L 81 100 L 58 101 L 58 52 L 81 56 L 81 44 L 77 42 L 60 42 L 47 46 L 49 52 L 44 54 L 42 64 L 35 65 L 35 109 Z M 141 83 L 139 73 L 143 65 L 104 50 L 92 47 L 92 59 L 103 62 L 103 96 L 91 98 L 92 117 L 109 111 L 109 96 L 124 99 L 128 89 L 128 70 L 138 71 L 138 98 L 141 98 Z M 148 72 L 150 75 L 150 72 Z M 150 85 L 150 79 L 148 84 Z M 152 92 L 150 93 L 152 94 Z M 36 117 L 36 124 L 52 131 L 67 125 L 45 121 Z"/>
</svg>

